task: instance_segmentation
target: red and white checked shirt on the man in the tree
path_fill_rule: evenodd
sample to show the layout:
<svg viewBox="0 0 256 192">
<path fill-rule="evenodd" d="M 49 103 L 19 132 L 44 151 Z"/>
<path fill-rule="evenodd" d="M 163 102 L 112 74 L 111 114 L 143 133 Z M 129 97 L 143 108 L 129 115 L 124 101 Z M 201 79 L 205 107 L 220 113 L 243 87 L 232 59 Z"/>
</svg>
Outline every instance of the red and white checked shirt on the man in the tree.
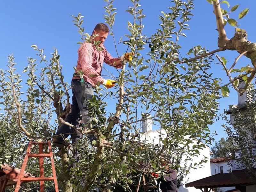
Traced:
<svg viewBox="0 0 256 192">
<path fill-rule="evenodd" d="M 83 71 L 84 81 L 94 86 L 98 82 L 103 81 L 100 76 L 102 71 L 103 61 L 108 65 L 115 68 L 121 68 L 120 65 L 113 65 L 113 63 L 119 58 L 113 58 L 106 50 L 103 44 L 98 45 L 98 48 L 102 47 L 102 51 L 98 51 L 93 43 L 84 42 L 78 49 L 78 60 L 76 70 Z M 76 73 L 78 73 L 76 71 Z M 72 79 L 79 79 L 79 76 L 74 76 Z"/>
</svg>

